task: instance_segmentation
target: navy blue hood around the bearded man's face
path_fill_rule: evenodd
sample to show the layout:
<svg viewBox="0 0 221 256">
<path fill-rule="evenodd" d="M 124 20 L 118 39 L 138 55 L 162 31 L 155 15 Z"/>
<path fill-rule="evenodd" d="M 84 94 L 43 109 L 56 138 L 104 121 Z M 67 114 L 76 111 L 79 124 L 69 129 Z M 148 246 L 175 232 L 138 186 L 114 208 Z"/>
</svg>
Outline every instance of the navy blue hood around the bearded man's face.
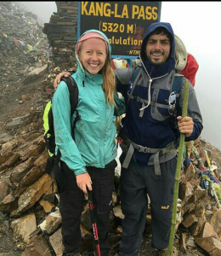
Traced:
<svg viewBox="0 0 221 256">
<path fill-rule="evenodd" d="M 154 32 L 157 27 L 164 27 L 167 29 L 167 32 L 169 32 L 172 36 L 172 42 L 171 42 L 171 49 L 170 49 L 170 55 L 167 58 L 167 61 L 165 61 L 161 65 L 153 65 L 148 59 L 145 54 L 145 46 L 147 39 L 150 36 L 151 32 Z M 174 40 L 174 33 L 173 28 L 169 23 L 166 22 L 156 22 L 149 26 L 149 28 L 144 33 L 143 43 L 141 44 L 140 49 L 140 59 L 143 61 L 144 67 L 147 70 L 147 72 L 150 75 L 150 78 L 157 78 L 161 77 L 167 73 L 170 73 L 175 68 L 175 57 L 174 57 L 174 49 L 175 49 L 175 40 Z"/>
</svg>

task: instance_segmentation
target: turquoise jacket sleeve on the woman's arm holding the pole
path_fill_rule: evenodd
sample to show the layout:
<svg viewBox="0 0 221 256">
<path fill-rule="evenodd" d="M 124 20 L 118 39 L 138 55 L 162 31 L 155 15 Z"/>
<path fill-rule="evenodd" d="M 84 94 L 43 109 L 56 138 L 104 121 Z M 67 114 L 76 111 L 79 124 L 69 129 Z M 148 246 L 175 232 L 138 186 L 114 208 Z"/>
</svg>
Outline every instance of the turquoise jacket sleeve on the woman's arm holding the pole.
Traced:
<svg viewBox="0 0 221 256">
<path fill-rule="evenodd" d="M 54 94 L 52 111 L 54 115 L 55 143 L 56 149 L 59 148 L 61 153 L 60 159 L 76 175 L 87 172 L 77 145 L 71 137 L 70 94 L 67 85 L 63 81 L 59 84 Z"/>
</svg>

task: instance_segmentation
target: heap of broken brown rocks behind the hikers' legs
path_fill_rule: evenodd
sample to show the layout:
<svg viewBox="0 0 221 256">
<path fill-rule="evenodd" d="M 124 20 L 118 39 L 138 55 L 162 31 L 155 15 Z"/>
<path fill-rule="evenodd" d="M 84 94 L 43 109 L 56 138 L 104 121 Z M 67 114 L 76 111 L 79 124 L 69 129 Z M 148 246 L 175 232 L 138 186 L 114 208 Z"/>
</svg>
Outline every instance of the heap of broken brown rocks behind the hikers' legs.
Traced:
<svg viewBox="0 0 221 256">
<path fill-rule="evenodd" d="M 40 112 L 32 112 L 20 119 L 16 126 L 17 137 L 1 137 L 0 151 L 0 211 L 9 216 L 10 227 L 14 231 L 17 247 L 27 255 L 62 255 L 61 217 L 59 214 L 59 196 L 52 175 L 45 173 L 48 152 L 42 137 Z M 24 129 L 24 124 L 26 128 Z M 9 130 L 8 133 L 10 134 Z M 203 141 L 201 142 L 203 143 Z M 201 143 L 195 145 L 198 152 L 204 152 Z M 201 188 L 199 164 L 206 166 L 212 162 L 213 175 L 220 179 L 220 152 L 208 150 L 207 155 L 215 152 L 214 158 L 201 154 L 201 160 L 195 155 L 193 145 L 187 145 L 186 155 L 189 166 L 182 170 L 179 186 L 179 205 L 176 246 L 183 254 L 195 252 L 195 255 L 218 256 L 221 253 L 221 209 L 218 202 L 210 195 L 211 190 Z M 205 152 L 204 152 L 205 153 Z M 212 160 L 216 160 L 215 163 Z M 113 213 L 111 215 L 112 235 L 115 241 L 122 236 L 121 219 L 123 218 L 119 201 L 119 174 L 116 173 L 113 191 Z M 209 192 L 209 193 L 208 193 Z M 150 235 L 150 206 L 146 217 L 146 236 Z M 91 224 L 87 201 L 82 214 L 82 237 L 92 240 Z M 116 239 L 117 238 L 117 239 Z M 86 246 L 88 249 L 88 245 Z M 86 250 L 82 247 L 82 251 Z M 31 252 L 35 254 L 31 254 Z M 143 250 L 146 253 L 145 250 Z M 142 255 L 142 253 L 141 253 Z M 144 254 L 143 254 L 144 255 Z"/>
</svg>

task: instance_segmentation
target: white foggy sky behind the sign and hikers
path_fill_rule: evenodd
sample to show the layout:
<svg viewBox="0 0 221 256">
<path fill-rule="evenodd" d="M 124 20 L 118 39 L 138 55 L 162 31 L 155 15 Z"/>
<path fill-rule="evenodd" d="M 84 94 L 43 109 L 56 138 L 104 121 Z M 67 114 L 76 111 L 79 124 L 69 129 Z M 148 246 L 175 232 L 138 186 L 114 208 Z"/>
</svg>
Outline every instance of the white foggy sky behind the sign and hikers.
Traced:
<svg viewBox="0 0 221 256">
<path fill-rule="evenodd" d="M 20 2 L 43 22 L 57 11 L 55 2 Z M 199 64 L 195 91 L 203 117 L 201 136 L 221 150 L 221 2 L 161 2 L 161 21 L 169 22 Z"/>
</svg>

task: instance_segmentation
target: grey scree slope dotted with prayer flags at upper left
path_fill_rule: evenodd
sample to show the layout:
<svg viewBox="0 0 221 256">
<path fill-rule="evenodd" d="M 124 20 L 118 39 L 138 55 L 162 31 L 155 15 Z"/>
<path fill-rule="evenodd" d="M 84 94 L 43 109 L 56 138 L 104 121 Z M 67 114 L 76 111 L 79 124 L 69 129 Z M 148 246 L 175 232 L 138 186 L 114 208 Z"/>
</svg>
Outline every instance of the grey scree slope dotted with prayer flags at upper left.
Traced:
<svg viewBox="0 0 221 256">
<path fill-rule="evenodd" d="M 36 63 L 37 67 L 47 63 L 48 40 L 37 16 L 20 9 L 15 3 L 0 3 L 0 23 L 1 84 L 7 86 L 13 82 L 16 85 Z"/>
</svg>

